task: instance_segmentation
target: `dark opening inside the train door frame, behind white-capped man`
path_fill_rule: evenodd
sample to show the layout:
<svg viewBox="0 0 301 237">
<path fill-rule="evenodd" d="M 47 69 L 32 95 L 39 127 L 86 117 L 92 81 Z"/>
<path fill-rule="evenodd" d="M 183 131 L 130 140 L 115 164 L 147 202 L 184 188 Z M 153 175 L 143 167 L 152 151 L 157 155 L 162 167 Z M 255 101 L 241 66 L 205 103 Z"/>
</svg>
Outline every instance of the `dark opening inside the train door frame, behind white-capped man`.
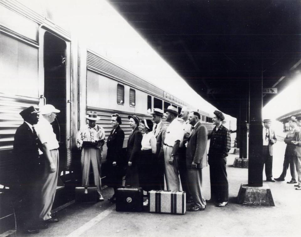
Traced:
<svg viewBox="0 0 301 237">
<path fill-rule="evenodd" d="M 57 113 L 52 123 L 54 133 L 59 141 L 60 163 L 59 174 L 65 169 L 68 140 L 67 114 L 67 73 L 66 73 L 66 42 L 45 31 L 44 34 L 44 97 L 47 104 L 52 104 L 61 112 Z M 70 126 L 70 125 L 69 125 Z"/>
</svg>

